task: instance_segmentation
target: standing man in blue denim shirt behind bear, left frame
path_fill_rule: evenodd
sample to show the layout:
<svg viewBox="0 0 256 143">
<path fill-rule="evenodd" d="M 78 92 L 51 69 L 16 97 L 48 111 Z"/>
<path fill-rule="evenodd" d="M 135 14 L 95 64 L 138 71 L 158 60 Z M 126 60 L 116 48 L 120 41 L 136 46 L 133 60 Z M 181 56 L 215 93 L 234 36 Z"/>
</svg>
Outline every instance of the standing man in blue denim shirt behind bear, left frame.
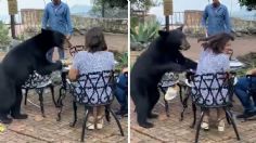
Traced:
<svg viewBox="0 0 256 143">
<path fill-rule="evenodd" d="M 52 0 L 52 2 L 48 3 L 42 16 L 42 28 L 64 34 L 69 43 L 68 40 L 71 39 L 73 27 L 68 5 L 61 0 Z M 47 55 L 50 61 L 52 61 L 53 50 L 54 49 L 52 49 Z M 64 50 L 57 49 L 57 51 L 59 57 L 63 60 L 65 57 Z"/>
</svg>

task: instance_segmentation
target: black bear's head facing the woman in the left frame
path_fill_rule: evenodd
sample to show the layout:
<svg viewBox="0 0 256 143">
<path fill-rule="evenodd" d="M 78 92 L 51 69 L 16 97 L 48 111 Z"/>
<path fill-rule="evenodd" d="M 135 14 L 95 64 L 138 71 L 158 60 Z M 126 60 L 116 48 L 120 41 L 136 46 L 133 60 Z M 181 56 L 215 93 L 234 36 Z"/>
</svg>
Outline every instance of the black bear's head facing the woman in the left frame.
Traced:
<svg viewBox="0 0 256 143">
<path fill-rule="evenodd" d="M 41 29 L 41 37 L 42 37 L 42 41 L 44 41 L 47 49 L 51 49 L 53 47 L 57 47 L 57 48 L 63 48 L 64 41 L 66 39 L 66 37 L 55 30 L 49 30 L 49 29 Z"/>
</svg>

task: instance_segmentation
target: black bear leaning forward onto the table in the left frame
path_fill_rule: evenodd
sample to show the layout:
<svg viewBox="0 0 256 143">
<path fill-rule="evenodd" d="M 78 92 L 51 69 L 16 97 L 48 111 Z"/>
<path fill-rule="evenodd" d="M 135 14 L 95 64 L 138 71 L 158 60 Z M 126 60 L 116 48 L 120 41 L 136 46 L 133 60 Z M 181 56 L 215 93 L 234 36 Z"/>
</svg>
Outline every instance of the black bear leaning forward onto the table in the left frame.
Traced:
<svg viewBox="0 0 256 143">
<path fill-rule="evenodd" d="M 62 48 L 65 36 L 57 31 L 41 30 L 41 34 L 13 48 L 0 64 L 0 121 L 11 123 L 14 119 L 26 119 L 21 114 L 22 84 L 37 70 L 48 75 L 62 68 L 60 61 L 51 63 L 47 60 L 47 52 L 53 48 Z M 12 118 L 9 118 L 11 115 Z"/>
</svg>

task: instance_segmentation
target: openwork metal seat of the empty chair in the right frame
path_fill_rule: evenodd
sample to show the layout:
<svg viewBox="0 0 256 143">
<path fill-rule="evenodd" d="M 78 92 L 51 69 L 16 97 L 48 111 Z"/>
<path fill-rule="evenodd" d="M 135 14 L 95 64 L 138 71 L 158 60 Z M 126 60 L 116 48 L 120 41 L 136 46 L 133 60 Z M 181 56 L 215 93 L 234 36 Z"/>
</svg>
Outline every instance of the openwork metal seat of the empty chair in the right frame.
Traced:
<svg viewBox="0 0 256 143">
<path fill-rule="evenodd" d="M 158 87 L 161 88 L 168 88 L 177 83 L 179 80 L 179 75 L 174 73 L 165 73 L 162 77 L 161 81 L 158 82 Z"/>
</svg>

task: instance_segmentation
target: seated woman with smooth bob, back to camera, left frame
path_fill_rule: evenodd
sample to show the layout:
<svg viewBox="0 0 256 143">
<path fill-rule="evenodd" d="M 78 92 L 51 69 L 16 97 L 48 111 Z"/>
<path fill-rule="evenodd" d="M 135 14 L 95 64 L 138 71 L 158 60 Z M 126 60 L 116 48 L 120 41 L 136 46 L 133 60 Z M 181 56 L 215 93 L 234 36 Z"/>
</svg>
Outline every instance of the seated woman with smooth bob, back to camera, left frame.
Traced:
<svg viewBox="0 0 256 143">
<path fill-rule="evenodd" d="M 71 80 L 76 80 L 78 75 L 114 69 L 114 54 L 106 51 L 107 47 L 100 27 L 93 27 L 87 31 L 86 48 L 87 51 L 80 51 L 74 57 L 68 73 Z M 103 128 L 103 112 L 104 106 L 97 107 L 98 129 Z M 88 129 L 94 129 L 92 113 L 93 110 L 89 110 Z"/>
</svg>

